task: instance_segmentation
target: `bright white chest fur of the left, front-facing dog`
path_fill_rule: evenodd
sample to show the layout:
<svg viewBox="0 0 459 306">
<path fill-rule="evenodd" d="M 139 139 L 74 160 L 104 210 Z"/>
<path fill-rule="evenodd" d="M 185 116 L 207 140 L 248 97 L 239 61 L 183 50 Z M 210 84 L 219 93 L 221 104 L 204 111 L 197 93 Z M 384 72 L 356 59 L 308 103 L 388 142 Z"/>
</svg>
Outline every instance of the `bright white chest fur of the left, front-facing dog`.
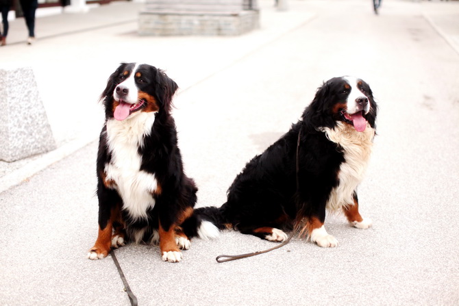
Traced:
<svg viewBox="0 0 459 306">
<path fill-rule="evenodd" d="M 147 210 L 155 205 L 152 194 L 158 182 L 154 174 L 140 170 L 142 158 L 138 153 L 143 139 L 151 133 L 154 120 L 153 113 L 139 113 L 122 121 L 107 121 L 108 151 L 112 159 L 105 166 L 106 179 L 116 183 L 123 209 L 134 220 L 147 218 Z"/>
</svg>

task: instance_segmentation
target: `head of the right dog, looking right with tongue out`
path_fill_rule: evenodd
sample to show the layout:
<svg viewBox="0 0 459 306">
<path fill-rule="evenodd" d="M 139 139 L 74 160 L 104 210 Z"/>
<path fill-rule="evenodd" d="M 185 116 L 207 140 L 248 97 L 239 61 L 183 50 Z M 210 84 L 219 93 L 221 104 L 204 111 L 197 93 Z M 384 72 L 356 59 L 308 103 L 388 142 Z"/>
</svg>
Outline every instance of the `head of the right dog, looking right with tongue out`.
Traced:
<svg viewBox="0 0 459 306">
<path fill-rule="evenodd" d="M 367 125 L 375 127 L 376 114 L 373 92 L 365 81 L 356 77 L 334 77 L 317 90 L 303 119 L 330 128 L 342 121 L 356 131 L 364 131 Z"/>
</svg>

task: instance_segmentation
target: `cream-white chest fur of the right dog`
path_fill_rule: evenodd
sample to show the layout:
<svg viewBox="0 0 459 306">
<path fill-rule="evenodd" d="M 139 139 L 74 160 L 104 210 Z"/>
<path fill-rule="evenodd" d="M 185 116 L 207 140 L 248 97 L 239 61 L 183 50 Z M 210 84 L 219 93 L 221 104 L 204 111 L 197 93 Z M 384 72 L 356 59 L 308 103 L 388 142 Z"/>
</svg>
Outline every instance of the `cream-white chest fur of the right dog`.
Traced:
<svg viewBox="0 0 459 306">
<path fill-rule="evenodd" d="M 333 188 L 327 201 L 327 209 L 336 210 L 353 205 L 353 192 L 367 169 L 375 130 L 367 124 L 365 131 L 358 132 L 350 125 L 338 123 L 334 129 L 323 128 L 322 131 L 344 151 L 345 162 L 340 165 L 338 186 Z"/>
</svg>

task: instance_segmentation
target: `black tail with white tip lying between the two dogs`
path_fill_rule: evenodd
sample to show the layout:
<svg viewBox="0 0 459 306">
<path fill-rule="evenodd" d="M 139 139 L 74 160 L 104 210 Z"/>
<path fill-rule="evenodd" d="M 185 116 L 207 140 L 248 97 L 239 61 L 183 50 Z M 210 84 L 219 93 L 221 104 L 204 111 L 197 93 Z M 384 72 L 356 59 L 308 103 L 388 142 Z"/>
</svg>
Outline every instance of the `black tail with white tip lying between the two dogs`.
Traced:
<svg viewBox="0 0 459 306">
<path fill-rule="evenodd" d="M 200 207 L 182 223 L 182 229 L 188 238 L 209 240 L 219 237 L 220 231 L 227 228 L 225 223 L 221 207 Z"/>
</svg>

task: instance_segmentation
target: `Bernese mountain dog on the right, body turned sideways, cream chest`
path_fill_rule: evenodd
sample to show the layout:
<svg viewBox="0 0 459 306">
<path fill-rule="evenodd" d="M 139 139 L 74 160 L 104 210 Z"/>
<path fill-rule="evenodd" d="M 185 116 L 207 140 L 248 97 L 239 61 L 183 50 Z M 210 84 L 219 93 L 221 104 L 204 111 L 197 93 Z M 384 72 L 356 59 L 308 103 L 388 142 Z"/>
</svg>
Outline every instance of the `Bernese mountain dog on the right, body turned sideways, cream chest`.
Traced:
<svg viewBox="0 0 459 306">
<path fill-rule="evenodd" d="M 369 163 L 376 113 L 365 81 L 330 79 L 301 120 L 247 163 L 227 202 L 196 209 L 195 215 L 219 229 L 277 242 L 296 229 L 323 247 L 338 244 L 325 230 L 326 209 L 344 212 L 353 227 L 369 228 L 371 220 L 359 213 L 357 187 Z"/>
</svg>

